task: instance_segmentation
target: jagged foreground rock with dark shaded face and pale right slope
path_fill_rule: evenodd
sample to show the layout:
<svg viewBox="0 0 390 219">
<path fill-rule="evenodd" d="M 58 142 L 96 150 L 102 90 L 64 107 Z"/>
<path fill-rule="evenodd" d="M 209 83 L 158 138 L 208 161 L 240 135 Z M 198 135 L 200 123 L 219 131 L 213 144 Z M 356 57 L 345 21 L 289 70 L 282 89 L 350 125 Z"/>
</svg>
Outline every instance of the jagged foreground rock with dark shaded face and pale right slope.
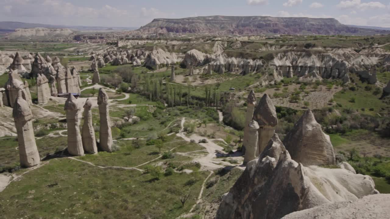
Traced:
<svg viewBox="0 0 390 219">
<path fill-rule="evenodd" d="M 299 210 L 377 193 L 369 176 L 297 163 L 275 134 L 259 159 L 247 164 L 223 196 L 216 219 L 281 218 Z"/>
</svg>

